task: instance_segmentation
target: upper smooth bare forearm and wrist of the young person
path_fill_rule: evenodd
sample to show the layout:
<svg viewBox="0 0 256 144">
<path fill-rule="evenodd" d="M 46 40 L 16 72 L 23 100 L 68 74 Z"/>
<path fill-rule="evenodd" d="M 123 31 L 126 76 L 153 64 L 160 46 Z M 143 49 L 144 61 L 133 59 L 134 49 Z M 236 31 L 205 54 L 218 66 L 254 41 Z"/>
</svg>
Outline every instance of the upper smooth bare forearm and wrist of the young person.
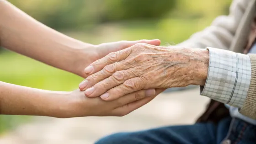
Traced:
<svg viewBox="0 0 256 144">
<path fill-rule="evenodd" d="M 0 44 L 78 75 L 79 62 L 90 59 L 84 48 L 92 46 L 43 25 L 5 0 L 0 0 Z"/>
</svg>

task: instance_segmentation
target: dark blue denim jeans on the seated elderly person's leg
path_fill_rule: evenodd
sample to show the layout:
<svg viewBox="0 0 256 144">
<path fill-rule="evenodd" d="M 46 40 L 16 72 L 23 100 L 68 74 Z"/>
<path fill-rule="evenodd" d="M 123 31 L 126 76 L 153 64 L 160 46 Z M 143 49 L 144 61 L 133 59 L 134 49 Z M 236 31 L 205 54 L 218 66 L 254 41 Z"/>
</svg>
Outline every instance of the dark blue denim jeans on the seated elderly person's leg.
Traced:
<svg viewBox="0 0 256 144">
<path fill-rule="evenodd" d="M 116 133 L 96 144 L 256 144 L 256 126 L 227 117 L 218 124 L 195 123 Z"/>
</svg>

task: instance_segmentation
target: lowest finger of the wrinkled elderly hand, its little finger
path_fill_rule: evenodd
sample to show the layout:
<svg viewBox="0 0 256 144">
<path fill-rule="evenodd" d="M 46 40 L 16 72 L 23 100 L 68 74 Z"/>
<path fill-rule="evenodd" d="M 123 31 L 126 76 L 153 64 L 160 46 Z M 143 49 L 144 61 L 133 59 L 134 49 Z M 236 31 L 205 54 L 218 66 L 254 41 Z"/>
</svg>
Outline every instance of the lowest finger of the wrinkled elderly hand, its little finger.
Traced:
<svg viewBox="0 0 256 144">
<path fill-rule="evenodd" d="M 101 99 L 105 101 L 112 101 L 134 91 L 139 91 L 144 88 L 144 85 L 145 80 L 141 77 L 125 80 L 123 84 L 118 85 L 101 95 Z"/>
</svg>

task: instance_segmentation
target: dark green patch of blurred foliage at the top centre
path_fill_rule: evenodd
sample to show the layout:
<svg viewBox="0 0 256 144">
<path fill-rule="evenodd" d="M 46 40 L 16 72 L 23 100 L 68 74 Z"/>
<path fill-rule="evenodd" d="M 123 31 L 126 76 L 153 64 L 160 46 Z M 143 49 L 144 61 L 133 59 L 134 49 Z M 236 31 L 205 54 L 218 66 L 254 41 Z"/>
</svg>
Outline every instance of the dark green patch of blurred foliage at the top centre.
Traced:
<svg viewBox="0 0 256 144">
<path fill-rule="evenodd" d="M 111 20 L 161 18 L 175 7 L 177 0 L 105 0 L 106 13 Z"/>
</svg>

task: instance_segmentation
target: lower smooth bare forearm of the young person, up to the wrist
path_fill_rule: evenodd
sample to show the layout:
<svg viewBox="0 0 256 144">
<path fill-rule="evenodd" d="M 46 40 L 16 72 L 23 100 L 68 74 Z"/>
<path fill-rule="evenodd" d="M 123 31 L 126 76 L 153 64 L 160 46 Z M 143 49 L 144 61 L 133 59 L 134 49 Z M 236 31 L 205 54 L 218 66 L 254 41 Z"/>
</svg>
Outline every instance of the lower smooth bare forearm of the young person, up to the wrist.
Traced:
<svg viewBox="0 0 256 144">
<path fill-rule="evenodd" d="M 0 82 L 0 114 L 64 117 L 70 92 L 46 91 Z"/>
</svg>

